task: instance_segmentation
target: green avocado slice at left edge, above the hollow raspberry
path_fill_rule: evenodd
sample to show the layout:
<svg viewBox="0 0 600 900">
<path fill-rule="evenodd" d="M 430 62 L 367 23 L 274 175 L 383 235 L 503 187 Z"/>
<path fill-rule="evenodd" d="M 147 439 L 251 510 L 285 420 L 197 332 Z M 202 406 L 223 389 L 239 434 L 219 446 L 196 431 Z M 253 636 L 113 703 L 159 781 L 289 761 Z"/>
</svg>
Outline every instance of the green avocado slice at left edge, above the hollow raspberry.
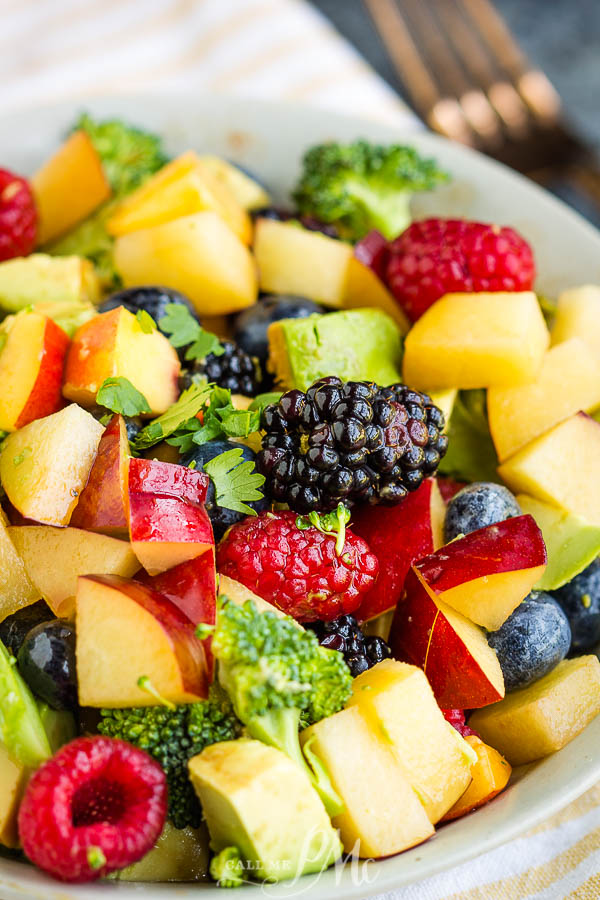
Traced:
<svg viewBox="0 0 600 900">
<path fill-rule="evenodd" d="M 52 748 L 37 704 L 15 663 L 0 643 L 0 742 L 15 762 L 33 769 L 52 756 Z"/>
</svg>

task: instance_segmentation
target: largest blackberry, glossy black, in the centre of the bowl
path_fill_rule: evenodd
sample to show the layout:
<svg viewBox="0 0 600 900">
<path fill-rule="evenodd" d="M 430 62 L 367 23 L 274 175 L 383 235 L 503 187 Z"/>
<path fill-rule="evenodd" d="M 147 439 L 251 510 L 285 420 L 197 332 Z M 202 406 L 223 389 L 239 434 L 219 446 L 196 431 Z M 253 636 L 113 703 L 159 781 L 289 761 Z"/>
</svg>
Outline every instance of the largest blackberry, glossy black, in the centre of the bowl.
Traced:
<svg viewBox="0 0 600 900">
<path fill-rule="evenodd" d="M 315 381 L 263 412 L 256 467 L 272 500 L 327 512 L 342 501 L 393 505 L 432 475 L 446 452 L 444 414 L 403 384 Z"/>
</svg>

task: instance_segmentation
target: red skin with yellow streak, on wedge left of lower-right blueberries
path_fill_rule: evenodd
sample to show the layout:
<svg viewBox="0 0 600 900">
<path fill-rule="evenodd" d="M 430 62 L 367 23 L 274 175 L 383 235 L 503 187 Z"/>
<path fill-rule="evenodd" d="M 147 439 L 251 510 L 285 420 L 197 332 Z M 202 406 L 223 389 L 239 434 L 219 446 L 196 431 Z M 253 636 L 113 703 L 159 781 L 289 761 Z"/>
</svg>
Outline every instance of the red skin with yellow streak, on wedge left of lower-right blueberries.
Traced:
<svg viewBox="0 0 600 900">
<path fill-rule="evenodd" d="M 443 709 L 478 709 L 502 699 L 412 568 L 389 644 L 395 659 L 423 669 Z"/>
</svg>

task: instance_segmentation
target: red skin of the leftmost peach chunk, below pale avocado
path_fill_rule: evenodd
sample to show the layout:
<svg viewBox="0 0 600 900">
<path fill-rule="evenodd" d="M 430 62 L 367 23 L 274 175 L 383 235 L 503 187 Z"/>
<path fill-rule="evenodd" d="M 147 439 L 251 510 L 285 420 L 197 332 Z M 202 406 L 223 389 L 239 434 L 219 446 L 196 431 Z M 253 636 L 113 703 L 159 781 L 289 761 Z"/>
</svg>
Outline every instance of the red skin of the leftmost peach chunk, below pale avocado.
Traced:
<svg viewBox="0 0 600 900">
<path fill-rule="evenodd" d="M 42 419 L 63 408 L 65 402 L 62 396 L 62 378 L 68 349 L 69 337 L 66 332 L 52 319 L 46 319 L 37 377 L 15 422 L 15 428 L 22 428 L 35 419 Z"/>
</svg>

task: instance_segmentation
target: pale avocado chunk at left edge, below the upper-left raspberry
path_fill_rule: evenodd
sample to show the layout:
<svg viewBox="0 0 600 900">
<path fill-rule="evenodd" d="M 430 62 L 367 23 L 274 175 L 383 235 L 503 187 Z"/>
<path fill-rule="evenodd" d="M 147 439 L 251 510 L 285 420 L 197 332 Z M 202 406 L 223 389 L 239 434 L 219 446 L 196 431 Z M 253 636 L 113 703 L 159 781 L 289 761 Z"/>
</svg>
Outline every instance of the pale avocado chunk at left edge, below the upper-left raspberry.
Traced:
<svg viewBox="0 0 600 900">
<path fill-rule="evenodd" d="M 38 303 L 97 303 L 99 299 L 94 267 L 80 256 L 33 253 L 0 263 L 0 307 L 7 312 Z"/>
</svg>

